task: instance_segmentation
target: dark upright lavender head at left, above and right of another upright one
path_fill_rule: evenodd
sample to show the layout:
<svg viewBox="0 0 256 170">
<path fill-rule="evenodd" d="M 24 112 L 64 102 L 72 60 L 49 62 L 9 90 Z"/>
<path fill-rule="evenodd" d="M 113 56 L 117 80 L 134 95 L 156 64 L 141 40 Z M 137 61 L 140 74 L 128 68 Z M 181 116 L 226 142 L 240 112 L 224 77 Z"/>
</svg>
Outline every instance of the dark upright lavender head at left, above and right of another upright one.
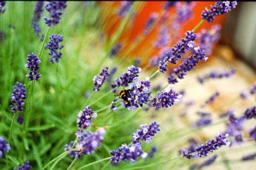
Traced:
<svg viewBox="0 0 256 170">
<path fill-rule="evenodd" d="M 35 55 L 35 53 L 31 53 L 30 55 L 28 55 L 27 60 L 28 61 L 25 66 L 28 67 L 30 71 L 29 74 L 26 75 L 26 77 L 28 77 L 29 80 L 38 81 L 38 79 L 41 77 L 41 74 L 39 74 L 37 70 L 39 69 L 39 64 L 41 60 Z"/>
</svg>

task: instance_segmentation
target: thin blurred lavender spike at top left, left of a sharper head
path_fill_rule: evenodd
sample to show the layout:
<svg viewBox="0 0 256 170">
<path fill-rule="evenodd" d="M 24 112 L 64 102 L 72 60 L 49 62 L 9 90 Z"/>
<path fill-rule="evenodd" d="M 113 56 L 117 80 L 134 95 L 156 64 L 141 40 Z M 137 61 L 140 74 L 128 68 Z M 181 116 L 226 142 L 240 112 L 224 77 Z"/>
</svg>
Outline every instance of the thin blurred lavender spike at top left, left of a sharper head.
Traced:
<svg viewBox="0 0 256 170">
<path fill-rule="evenodd" d="M 43 10 L 44 10 L 44 1 L 37 1 L 35 10 L 34 10 L 34 16 L 32 19 L 32 26 L 34 31 L 36 32 L 36 35 L 38 37 L 41 37 L 41 40 L 44 39 L 44 35 L 41 35 L 42 30 L 40 28 L 38 21 L 41 18 Z"/>
</svg>

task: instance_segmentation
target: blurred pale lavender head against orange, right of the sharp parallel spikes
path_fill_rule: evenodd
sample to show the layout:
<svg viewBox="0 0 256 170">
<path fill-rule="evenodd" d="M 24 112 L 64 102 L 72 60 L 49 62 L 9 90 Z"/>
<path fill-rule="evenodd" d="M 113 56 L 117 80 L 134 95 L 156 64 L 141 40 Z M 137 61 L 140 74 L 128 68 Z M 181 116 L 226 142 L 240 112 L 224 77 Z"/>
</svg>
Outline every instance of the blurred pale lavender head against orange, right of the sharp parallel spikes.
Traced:
<svg viewBox="0 0 256 170">
<path fill-rule="evenodd" d="M 198 33 L 199 46 L 206 55 L 212 54 L 212 48 L 220 39 L 221 25 L 213 25 L 211 29 L 202 29 Z"/>
</svg>

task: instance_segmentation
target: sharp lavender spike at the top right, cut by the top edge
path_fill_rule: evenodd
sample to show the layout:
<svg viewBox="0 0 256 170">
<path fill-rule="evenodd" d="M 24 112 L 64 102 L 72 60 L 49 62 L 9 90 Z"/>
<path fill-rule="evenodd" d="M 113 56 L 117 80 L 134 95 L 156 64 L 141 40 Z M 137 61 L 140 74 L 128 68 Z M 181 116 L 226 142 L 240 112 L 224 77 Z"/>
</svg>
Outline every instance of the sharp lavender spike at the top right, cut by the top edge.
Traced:
<svg viewBox="0 0 256 170">
<path fill-rule="evenodd" d="M 237 1 L 217 1 L 214 6 L 211 6 L 210 10 L 205 8 L 205 11 L 202 11 L 202 19 L 212 22 L 215 16 L 227 13 L 236 8 L 236 5 Z"/>
</svg>

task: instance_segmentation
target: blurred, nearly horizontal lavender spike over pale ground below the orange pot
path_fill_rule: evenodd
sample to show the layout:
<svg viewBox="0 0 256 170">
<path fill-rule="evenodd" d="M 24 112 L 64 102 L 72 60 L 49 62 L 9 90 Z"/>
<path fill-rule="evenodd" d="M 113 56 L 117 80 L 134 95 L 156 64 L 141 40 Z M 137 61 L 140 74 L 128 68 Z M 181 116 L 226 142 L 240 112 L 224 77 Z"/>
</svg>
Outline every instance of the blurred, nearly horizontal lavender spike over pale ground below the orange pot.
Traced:
<svg viewBox="0 0 256 170">
<path fill-rule="evenodd" d="M 230 78 L 234 76 L 235 73 L 236 73 L 236 70 L 232 67 L 229 70 L 225 70 L 223 72 L 212 70 L 210 73 L 207 73 L 204 76 L 198 76 L 197 80 L 199 83 L 203 84 L 206 80 L 209 80 L 209 79 Z"/>
</svg>

